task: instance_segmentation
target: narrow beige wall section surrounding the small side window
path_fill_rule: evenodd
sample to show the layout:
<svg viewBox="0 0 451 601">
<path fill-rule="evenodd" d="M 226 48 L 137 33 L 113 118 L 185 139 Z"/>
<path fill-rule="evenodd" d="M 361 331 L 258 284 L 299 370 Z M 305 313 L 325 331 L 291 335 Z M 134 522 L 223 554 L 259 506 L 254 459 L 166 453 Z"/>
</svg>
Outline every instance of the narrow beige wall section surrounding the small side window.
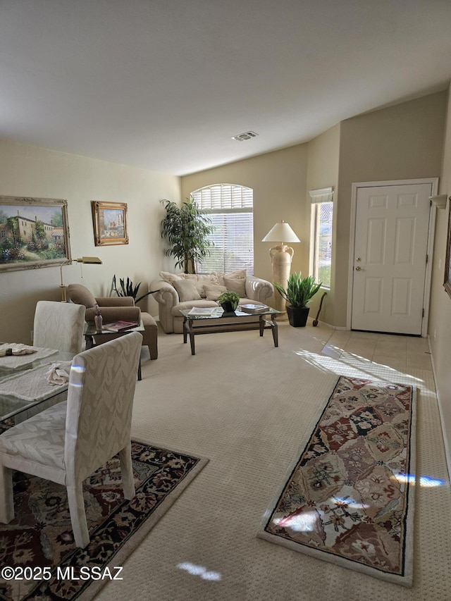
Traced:
<svg viewBox="0 0 451 601">
<path fill-rule="evenodd" d="M 309 142 L 309 166 L 307 170 L 307 191 L 332 186 L 334 189 L 334 211 L 337 210 L 336 198 L 338 194 L 338 166 L 340 157 L 340 124 L 316 137 Z M 311 219 L 310 197 L 307 192 L 306 206 L 307 221 Z M 335 223 L 335 222 L 334 222 Z M 319 303 L 323 292 L 326 297 L 321 307 L 320 321 L 335 323 L 335 231 L 333 232 L 332 244 L 332 271 L 330 278 L 330 290 L 319 290 L 310 303 L 310 317 L 315 318 L 318 314 Z M 311 270 L 309 270 L 311 271 Z M 307 275 L 307 272 L 304 272 Z"/>
</svg>

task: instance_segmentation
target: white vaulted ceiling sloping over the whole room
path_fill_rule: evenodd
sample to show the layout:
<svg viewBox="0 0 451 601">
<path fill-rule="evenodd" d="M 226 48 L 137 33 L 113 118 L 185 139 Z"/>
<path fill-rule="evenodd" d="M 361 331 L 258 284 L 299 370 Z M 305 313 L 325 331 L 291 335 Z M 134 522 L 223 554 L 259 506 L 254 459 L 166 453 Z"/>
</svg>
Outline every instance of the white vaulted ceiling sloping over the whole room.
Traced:
<svg viewBox="0 0 451 601">
<path fill-rule="evenodd" d="M 450 0 L 0 0 L 0 137 L 185 175 L 445 89 L 450 25 Z"/>
</svg>

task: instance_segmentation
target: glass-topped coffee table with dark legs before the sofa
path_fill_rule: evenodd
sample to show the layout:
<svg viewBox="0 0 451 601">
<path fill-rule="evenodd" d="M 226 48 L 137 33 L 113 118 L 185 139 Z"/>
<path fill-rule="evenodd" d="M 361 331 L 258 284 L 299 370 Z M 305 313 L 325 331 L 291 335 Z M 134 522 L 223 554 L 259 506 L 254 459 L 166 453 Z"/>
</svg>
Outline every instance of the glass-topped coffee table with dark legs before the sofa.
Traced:
<svg viewBox="0 0 451 601">
<path fill-rule="evenodd" d="M 213 334 L 218 332 L 237 332 L 239 330 L 259 330 L 260 336 L 263 336 L 264 330 L 271 330 L 273 333 L 274 346 L 278 347 L 278 326 L 276 316 L 283 311 L 277 311 L 271 306 L 263 311 L 247 313 L 240 311 L 240 307 L 235 314 L 224 314 L 221 306 L 211 313 L 211 315 L 195 315 L 191 309 L 180 309 L 183 315 L 183 343 L 187 343 L 187 337 L 190 335 L 191 354 L 196 354 L 194 348 L 194 336 L 197 334 Z M 271 318 L 271 321 L 266 319 Z"/>
</svg>

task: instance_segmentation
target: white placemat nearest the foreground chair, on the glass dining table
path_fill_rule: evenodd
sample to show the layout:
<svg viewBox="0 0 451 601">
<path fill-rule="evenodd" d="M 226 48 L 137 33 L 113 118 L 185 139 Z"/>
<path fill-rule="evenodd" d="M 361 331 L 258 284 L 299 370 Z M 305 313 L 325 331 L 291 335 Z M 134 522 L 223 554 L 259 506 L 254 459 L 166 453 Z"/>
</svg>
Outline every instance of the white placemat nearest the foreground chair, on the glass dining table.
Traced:
<svg viewBox="0 0 451 601">
<path fill-rule="evenodd" d="M 33 369 L 20 372 L 17 376 L 11 376 L 0 382 L 0 395 L 8 395 L 23 399 L 24 401 L 40 401 L 48 395 L 58 390 L 64 390 L 62 384 L 49 383 L 49 377 L 55 373 L 55 370 L 63 370 L 69 373 L 72 361 L 61 361 L 52 365 L 39 365 Z M 53 378 L 55 379 L 55 378 Z M 62 378 L 61 378 L 62 379 Z"/>
</svg>

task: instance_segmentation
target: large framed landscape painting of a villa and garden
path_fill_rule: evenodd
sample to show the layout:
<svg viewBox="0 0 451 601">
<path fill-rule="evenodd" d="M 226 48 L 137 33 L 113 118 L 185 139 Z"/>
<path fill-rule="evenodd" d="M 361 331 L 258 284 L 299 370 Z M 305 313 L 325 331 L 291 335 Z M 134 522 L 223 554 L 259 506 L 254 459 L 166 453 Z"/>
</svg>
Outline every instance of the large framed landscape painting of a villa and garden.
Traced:
<svg viewBox="0 0 451 601">
<path fill-rule="evenodd" d="M 0 271 L 70 259 L 67 201 L 0 196 Z"/>
</svg>

